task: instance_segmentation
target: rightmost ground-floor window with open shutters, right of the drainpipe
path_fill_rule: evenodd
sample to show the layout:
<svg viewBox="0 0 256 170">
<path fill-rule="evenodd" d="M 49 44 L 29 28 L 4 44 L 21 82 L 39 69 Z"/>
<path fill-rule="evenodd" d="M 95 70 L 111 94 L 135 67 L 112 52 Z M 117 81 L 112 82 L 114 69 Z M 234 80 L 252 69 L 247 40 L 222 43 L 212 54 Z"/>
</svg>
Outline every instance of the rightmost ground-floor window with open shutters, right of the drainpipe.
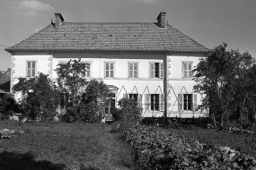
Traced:
<svg viewBox="0 0 256 170">
<path fill-rule="evenodd" d="M 179 110 L 195 111 L 197 108 L 197 94 L 179 94 Z"/>
</svg>

